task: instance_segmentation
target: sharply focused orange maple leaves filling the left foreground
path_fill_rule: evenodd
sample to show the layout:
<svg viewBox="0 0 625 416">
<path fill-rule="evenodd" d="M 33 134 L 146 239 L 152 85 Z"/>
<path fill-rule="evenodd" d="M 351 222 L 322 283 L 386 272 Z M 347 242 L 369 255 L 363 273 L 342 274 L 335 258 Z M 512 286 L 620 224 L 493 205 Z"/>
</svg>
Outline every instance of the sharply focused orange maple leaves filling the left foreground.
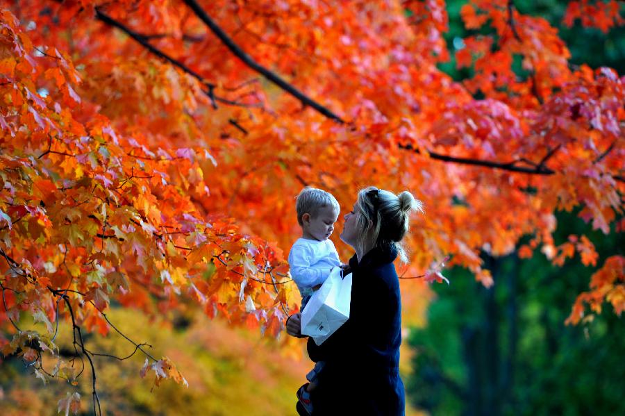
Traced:
<svg viewBox="0 0 625 416">
<path fill-rule="evenodd" d="M 172 307 L 183 292 L 209 315 L 276 336 L 292 290 L 276 283 L 288 280 L 288 267 L 275 244 L 244 235 L 232 219 L 192 201 L 209 192 L 203 165 L 215 159 L 207 147 L 122 133 L 78 95 L 83 77 L 67 53 L 33 46 L 8 10 L 0 24 L 8 55 L 1 62 L 1 319 L 17 330 L 1 338 L 2 352 L 35 363 L 42 378 L 63 376 L 70 370 L 41 367 L 42 351 L 58 353 L 59 317 L 106 334 L 115 328 L 104 313 L 112 299 L 152 311 Z M 185 82 L 185 74 L 170 75 Z M 180 107 L 190 110 L 189 102 Z M 47 331 L 20 330 L 24 313 Z M 157 381 L 180 381 L 172 366 L 153 359 Z M 75 399 L 59 408 L 74 409 Z"/>
</svg>

